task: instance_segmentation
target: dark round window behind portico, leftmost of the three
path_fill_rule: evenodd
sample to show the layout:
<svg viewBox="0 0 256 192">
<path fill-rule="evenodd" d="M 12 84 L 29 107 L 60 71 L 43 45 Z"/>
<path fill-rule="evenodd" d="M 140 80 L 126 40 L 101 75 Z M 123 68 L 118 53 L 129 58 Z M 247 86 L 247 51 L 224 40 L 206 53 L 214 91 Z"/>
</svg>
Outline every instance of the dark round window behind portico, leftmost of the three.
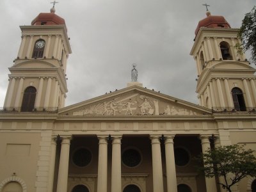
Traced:
<svg viewBox="0 0 256 192">
<path fill-rule="evenodd" d="M 92 154 L 86 148 L 79 148 L 74 152 L 72 160 L 77 166 L 86 166 L 92 161 Z"/>
</svg>

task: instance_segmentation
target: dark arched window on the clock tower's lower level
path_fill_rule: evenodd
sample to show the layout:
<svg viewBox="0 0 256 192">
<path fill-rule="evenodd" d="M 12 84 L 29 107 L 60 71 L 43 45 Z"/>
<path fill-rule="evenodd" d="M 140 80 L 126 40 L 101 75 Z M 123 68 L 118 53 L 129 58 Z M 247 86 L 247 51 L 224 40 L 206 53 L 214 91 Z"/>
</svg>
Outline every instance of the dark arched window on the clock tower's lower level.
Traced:
<svg viewBox="0 0 256 192">
<path fill-rule="evenodd" d="M 33 111 L 36 100 L 36 88 L 33 86 L 28 86 L 24 91 L 21 109 L 22 112 Z"/>
</svg>

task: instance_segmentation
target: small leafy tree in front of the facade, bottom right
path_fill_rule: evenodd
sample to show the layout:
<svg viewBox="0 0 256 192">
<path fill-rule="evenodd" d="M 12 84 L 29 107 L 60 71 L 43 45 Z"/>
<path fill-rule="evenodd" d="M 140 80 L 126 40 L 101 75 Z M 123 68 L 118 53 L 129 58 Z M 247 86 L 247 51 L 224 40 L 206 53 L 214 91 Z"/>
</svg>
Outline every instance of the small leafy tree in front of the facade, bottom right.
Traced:
<svg viewBox="0 0 256 192">
<path fill-rule="evenodd" d="M 219 184 L 231 192 L 231 187 L 246 176 L 256 176 L 255 150 L 244 145 L 227 145 L 209 149 L 199 158 L 204 166 L 198 168 L 205 177 L 222 177 Z"/>
</svg>

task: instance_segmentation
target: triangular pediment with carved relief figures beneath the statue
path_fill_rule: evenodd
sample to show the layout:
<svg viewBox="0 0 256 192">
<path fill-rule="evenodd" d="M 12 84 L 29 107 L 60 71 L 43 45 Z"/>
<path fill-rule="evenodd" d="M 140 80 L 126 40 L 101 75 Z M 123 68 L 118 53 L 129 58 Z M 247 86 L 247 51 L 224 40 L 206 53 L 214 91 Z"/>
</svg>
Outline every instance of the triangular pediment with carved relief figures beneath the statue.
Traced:
<svg viewBox="0 0 256 192">
<path fill-rule="evenodd" d="M 71 116 L 197 116 L 211 110 L 140 86 L 131 86 L 60 109 Z"/>
</svg>

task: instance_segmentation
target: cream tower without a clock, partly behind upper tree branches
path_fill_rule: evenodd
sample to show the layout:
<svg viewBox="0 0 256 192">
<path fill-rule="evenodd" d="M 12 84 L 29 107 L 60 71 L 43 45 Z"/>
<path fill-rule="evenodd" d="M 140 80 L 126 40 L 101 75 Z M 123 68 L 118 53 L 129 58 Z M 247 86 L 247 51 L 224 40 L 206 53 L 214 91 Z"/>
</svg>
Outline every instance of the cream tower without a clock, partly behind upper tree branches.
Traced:
<svg viewBox="0 0 256 192">
<path fill-rule="evenodd" d="M 223 16 L 198 22 L 190 54 L 196 61 L 196 93 L 201 106 L 214 111 L 251 111 L 256 107 L 255 68 L 237 54 L 239 29 Z"/>
</svg>

